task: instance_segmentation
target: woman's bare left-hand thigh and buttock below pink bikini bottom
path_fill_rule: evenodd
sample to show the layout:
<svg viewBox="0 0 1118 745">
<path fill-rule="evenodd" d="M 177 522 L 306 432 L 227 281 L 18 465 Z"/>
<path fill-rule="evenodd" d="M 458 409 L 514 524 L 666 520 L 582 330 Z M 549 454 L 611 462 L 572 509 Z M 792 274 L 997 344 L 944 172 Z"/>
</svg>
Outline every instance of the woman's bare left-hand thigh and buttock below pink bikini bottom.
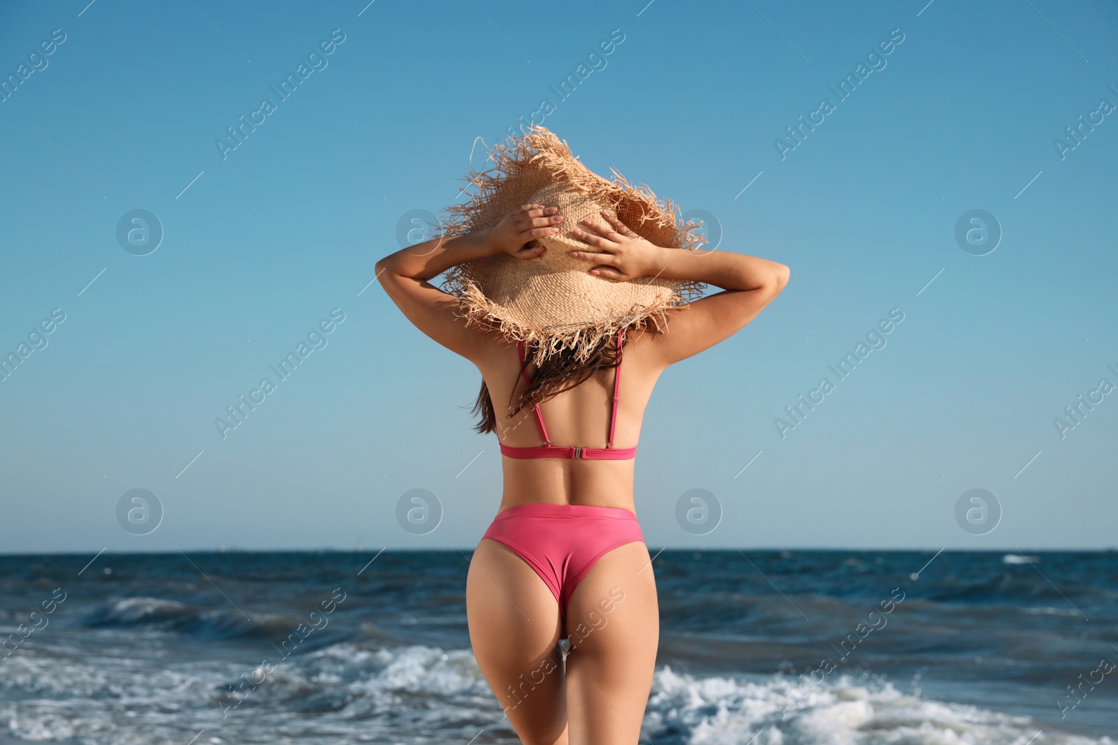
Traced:
<svg viewBox="0 0 1118 745">
<path fill-rule="evenodd" d="M 470 562 L 466 618 L 477 666 L 523 743 L 566 745 L 559 604 L 543 580 L 483 538 Z"/>
</svg>

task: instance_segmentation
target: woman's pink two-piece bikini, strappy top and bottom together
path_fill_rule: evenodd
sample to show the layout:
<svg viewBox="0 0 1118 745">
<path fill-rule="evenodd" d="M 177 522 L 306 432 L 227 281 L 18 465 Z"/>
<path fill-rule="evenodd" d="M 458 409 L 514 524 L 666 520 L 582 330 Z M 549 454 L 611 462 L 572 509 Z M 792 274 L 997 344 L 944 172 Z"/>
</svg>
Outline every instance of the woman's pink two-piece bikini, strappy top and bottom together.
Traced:
<svg viewBox="0 0 1118 745">
<path fill-rule="evenodd" d="M 609 440 L 605 448 L 553 446 L 543 426 L 539 404 L 532 404 L 542 446 L 515 448 L 501 443 L 510 458 L 581 458 L 584 460 L 628 460 L 636 448 L 615 448 L 618 384 L 620 381 L 622 334 L 617 333 L 617 366 L 614 369 L 613 411 Z M 524 366 L 524 343 L 517 344 L 520 365 Z M 531 384 L 528 371 L 521 370 L 524 384 Z M 636 515 L 620 507 L 586 505 L 528 504 L 509 507 L 493 519 L 483 536 L 515 552 L 543 580 L 566 618 L 567 602 L 586 573 L 607 553 L 629 543 L 643 542 Z"/>
</svg>

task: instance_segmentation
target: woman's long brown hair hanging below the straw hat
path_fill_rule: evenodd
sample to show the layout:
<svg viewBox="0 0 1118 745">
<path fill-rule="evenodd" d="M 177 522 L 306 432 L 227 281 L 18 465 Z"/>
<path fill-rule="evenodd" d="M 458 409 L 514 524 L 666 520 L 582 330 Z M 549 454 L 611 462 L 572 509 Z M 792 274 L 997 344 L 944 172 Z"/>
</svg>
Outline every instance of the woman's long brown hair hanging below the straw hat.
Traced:
<svg viewBox="0 0 1118 745">
<path fill-rule="evenodd" d="M 568 348 L 560 350 L 558 354 L 544 360 L 532 376 L 531 384 L 521 392 L 520 401 L 509 412 L 509 416 L 512 417 L 527 405 L 542 403 L 549 394 L 555 395 L 581 385 L 594 375 L 595 371 L 616 367 L 620 356 L 616 338 L 616 335 L 601 337 L 586 360 L 579 363 L 574 361 L 575 350 Z M 622 344 L 624 348 L 624 337 Z M 523 374 L 528 363 L 532 360 L 528 344 L 525 344 L 524 359 L 525 362 L 521 365 L 518 375 Z M 514 390 L 515 388 L 513 388 Z M 512 405 L 512 391 L 509 392 L 509 405 Z M 496 431 L 496 412 L 493 409 L 489 385 L 485 384 L 484 380 L 482 380 L 482 389 L 477 393 L 477 401 L 474 402 L 472 413 L 481 413 L 481 420 L 474 426 L 477 432 L 487 434 Z"/>
</svg>

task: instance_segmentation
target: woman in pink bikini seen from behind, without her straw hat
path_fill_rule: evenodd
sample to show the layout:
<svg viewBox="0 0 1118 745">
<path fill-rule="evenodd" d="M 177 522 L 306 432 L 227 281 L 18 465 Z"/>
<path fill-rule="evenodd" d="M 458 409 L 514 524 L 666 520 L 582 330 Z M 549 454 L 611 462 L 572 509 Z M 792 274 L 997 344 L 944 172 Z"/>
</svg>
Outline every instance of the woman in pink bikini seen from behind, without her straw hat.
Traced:
<svg viewBox="0 0 1118 745">
<path fill-rule="evenodd" d="M 524 204 L 487 230 L 397 251 L 377 262 L 377 276 L 409 321 L 473 362 L 484 379 L 480 429 L 499 434 L 504 489 L 466 582 L 479 667 L 523 743 L 620 745 L 639 738 L 660 633 L 633 499 L 645 404 L 664 369 L 737 333 L 771 303 L 788 281 L 788 267 L 654 246 L 609 211 L 568 226 L 594 249 L 570 252 L 594 265 L 590 274 L 690 279 L 722 292 L 607 340 L 581 371 L 563 372 L 585 380 L 529 413 L 525 390 L 538 371 L 522 362 L 523 347 L 466 325 L 458 298 L 428 280 L 500 252 L 531 259 L 553 250 L 537 241 L 558 232 L 562 220 L 556 207 Z M 553 370 L 548 375 L 557 378 Z M 494 405 L 505 395 L 521 407 L 506 413 Z"/>
</svg>

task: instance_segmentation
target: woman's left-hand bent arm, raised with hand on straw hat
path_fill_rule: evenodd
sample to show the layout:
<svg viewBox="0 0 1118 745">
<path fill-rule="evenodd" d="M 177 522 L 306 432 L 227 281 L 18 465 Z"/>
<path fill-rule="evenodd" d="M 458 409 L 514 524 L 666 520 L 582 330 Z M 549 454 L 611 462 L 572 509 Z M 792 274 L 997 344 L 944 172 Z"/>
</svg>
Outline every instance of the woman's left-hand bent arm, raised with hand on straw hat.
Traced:
<svg viewBox="0 0 1118 745">
<path fill-rule="evenodd" d="M 423 333 L 462 356 L 477 361 L 490 332 L 466 327 L 458 298 L 428 280 L 466 261 L 506 252 L 517 258 L 539 256 L 542 247 L 525 243 L 553 232 L 562 220 L 556 208 L 525 204 L 496 226 L 454 238 L 435 238 L 390 254 L 377 261 L 377 278 L 408 321 Z"/>
</svg>

